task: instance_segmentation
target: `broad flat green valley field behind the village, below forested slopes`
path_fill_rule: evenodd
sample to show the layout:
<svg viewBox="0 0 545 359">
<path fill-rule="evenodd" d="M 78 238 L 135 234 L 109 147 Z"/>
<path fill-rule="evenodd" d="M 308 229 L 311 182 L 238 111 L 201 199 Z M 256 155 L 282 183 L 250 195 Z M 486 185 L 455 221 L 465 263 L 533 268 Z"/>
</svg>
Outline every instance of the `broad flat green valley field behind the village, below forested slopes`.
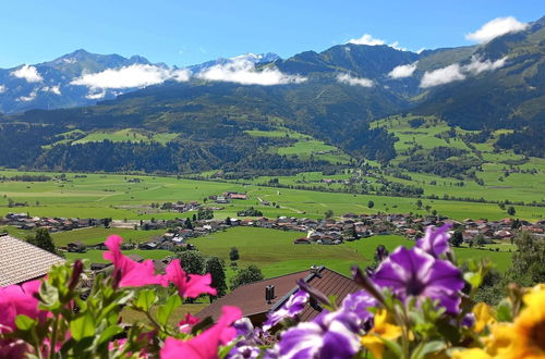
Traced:
<svg viewBox="0 0 545 359">
<path fill-rule="evenodd" d="M 24 173 L 33 174 L 29 172 Z M 0 175 L 8 177 L 17 174 L 23 174 L 23 172 L 0 171 Z M 47 173 L 46 175 L 55 176 L 56 174 Z M 318 178 L 319 174 L 306 173 L 301 176 Z M 336 176 L 344 177 L 346 175 Z M 141 182 L 128 182 L 132 178 L 140 178 Z M 152 209 L 150 203 L 175 202 L 179 200 L 203 201 L 208 196 L 219 195 L 227 190 L 247 193 L 250 199 L 234 200 L 231 203 L 222 205 L 225 209 L 216 212 L 217 218 L 235 218 L 238 211 L 250 206 L 259 209 L 264 215 L 269 218 L 278 215 L 322 218 L 328 209 L 331 209 L 335 215 L 348 212 L 427 213 L 424 209 L 417 209 L 415 198 L 271 188 L 253 184 L 242 185 L 146 175 L 85 174 L 82 177 L 82 174 L 69 173 L 66 174 L 66 181 L 0 182 L 0 215 L 8 212 L 28 212 L 31 215 L 39 216 L 110 216 L 118 220 L 186 218 L 193 213 Z M 536 189 L 534 197 L 538 198 L 543 190 L 543 188 Z M 488 191 L 481 190 L 480 194 L 486 196 Z M 275 202 L 279 208 L 263 206 L 257 197 L 270 203 Z M 21 203 L 26 202 L 26 206 L 10 208 L 8 207 L 9 199 Z M 368 209 L 366 206 L 370 200 L 375 203 L 373 209 Z M 429 205 L 432 210 L 435 209 L 438 213 L 457 220 L 465 218 L 496 220 L 507 216 L 505 210 L 501 210 L 495 203 L 427 199 L 424 199 L 423 202 L 424 207 Z M 517 216 L 521 219 L 535 221 L 545 215 L 545 208 L 543 207 L 516 206 L 516 208 Z"/>
</svg>

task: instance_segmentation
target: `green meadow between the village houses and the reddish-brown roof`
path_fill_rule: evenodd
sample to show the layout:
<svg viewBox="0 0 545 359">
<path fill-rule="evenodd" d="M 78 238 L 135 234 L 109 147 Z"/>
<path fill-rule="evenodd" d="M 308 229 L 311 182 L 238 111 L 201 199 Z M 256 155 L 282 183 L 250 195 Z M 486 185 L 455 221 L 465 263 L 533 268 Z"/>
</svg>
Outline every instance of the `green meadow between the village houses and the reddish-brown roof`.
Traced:
<svg viewBox="0 0 545 359">
<path fill-rule="evenodd" d="M 267 228 L 235 227 L 226 232 L 192 239 L 198 250 L 208 256 L 217 256 L 229 263 L 231 247 L 239 249 L 239 267 L 255 264 L 266 277 L 282 275 L 308 269 L 311 265 L 326 265 L 340 273 L 350 274 L 352 264 L 362 268 L 373 262 L 375 249 L 384 245 L 388 250 L 398 246 L 411 247 L 414 243 L 396 235 L 374 236 L 338 246 L 293 245 L 301 237 L 299 232 L 282 232 Z M 476 248 L 455 248 L 460 261 L 488 258 L 505 271 L 510 264 L 510 252 L 496 252 Z M 233 275 L 232 271 L 228 276 Z"/>
</svg>

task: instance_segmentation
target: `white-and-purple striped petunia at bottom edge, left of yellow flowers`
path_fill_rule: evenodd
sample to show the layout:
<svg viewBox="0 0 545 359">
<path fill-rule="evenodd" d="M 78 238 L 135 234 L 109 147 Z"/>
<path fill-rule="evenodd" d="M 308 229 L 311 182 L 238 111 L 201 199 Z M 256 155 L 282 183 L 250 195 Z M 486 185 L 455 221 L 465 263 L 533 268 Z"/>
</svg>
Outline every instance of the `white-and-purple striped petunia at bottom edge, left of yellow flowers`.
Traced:
<svg viewBox="0 0 545 359">
<path fill-rule="evenodd" d="M 312 322 L 291 327 L 280 338 L 281 358 L 352 358 L 360 350 L 358 315 L 346 311 L 323 312 Z"/>
</svg>

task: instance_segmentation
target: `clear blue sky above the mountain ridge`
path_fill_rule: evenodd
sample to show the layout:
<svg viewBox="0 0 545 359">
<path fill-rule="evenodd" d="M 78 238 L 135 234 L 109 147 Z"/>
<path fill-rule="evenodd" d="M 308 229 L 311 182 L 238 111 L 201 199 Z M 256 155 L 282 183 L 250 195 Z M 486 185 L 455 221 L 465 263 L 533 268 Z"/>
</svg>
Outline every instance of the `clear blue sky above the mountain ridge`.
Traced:
<svg viewBox="0 0 545 359">
<path fill-rule="evenodd" d="M 473 44 L 464 35 L 495 17 L 543 15 L 543 0 L 11 0 L 0 2 L 0 67 L 80 48 L 179 66 L 244 52 L 286 58 L 364 34 L 433 49 Z"/>
</svg>

